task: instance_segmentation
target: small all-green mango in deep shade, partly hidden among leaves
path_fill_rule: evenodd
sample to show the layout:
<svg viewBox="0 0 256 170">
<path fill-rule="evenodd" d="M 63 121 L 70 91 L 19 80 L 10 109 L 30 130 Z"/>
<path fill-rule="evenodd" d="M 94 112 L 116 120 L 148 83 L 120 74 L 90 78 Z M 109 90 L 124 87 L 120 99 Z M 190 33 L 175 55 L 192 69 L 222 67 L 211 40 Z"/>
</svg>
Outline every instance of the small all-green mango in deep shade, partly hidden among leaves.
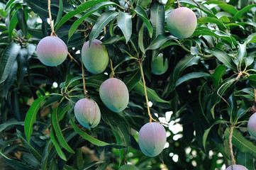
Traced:
<svg viewBox="0 0 256 170">
<path fill-rule="evenodd" d="M 164 74 L 168 69 L 168 59 L 166 58 L 164 63 L 164 57 L 162 53 L 160 53 L 159 55 L 157 55 L 155 60 L 151 61 L 151 69 L 152 74 Z"/>
</svg>

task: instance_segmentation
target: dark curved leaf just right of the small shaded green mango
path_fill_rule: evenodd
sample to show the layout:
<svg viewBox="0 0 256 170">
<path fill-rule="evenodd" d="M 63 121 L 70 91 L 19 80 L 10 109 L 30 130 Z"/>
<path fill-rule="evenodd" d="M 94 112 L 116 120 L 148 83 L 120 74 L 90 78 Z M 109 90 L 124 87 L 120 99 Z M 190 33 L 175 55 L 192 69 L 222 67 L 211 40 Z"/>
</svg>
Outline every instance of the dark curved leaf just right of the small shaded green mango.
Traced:
<svg viewBox="0 0 256 170">
<path fill-rule="evenodd" d="M 194 64 L 198 64 L 200 57 L 193 55 L 186 55 L 182 60 L 180 60 L 173 71 L 173 81 L 176 83 L 177 79 L 181 76 L 184 69 L 190 67 Z"/>
</svg>

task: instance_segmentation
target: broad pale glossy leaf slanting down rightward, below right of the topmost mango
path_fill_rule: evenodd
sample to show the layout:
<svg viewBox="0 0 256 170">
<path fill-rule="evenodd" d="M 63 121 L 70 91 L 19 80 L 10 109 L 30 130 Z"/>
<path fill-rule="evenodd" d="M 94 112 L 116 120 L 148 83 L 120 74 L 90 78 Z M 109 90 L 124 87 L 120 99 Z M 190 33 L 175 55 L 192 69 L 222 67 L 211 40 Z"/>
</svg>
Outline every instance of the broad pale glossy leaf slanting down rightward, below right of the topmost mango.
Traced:
<svg viewBox="0 0 256 170">
<path fill-rule="evenodd" d="M 233 71 L 237 70 L 237 67 L 235 66 L 235 63 L 233 62 L 232 58 L 223 50 L 213 47 L 213 48 L 208 48 L 206 52 L 209 52 L 215 57 L 217 57 L 217 59 L 220 62 L 222 62 L 226 67 L 233 69 Z"/>
</svg>

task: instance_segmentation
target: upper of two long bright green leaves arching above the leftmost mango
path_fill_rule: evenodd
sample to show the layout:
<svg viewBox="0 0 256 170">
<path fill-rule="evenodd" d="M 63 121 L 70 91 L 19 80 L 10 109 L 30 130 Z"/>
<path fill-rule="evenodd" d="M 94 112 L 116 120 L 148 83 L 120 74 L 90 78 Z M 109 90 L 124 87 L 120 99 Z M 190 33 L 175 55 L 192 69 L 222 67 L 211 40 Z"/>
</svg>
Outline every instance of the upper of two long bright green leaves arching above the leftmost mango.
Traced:
<svg viewBox="0 0 256 170">
<path fill-rule="evenodd" d="M 62 17 L 60 22 L 57 24 L 55 31 L 60 28 L 65 22 L 69 21 L 70 18 L 73 16 L 82 13 L 83 11 L 86 11 L 87 9 L 95 6 L 96 4 L 100 4 L 101 2 L 104 2 L 107 0 L 96 0 L 96 1 L 85 1 L 83 4 L 77 6 L 77 8 L 73 11 L 69 11 L 65 16 Z"/>
</svg>

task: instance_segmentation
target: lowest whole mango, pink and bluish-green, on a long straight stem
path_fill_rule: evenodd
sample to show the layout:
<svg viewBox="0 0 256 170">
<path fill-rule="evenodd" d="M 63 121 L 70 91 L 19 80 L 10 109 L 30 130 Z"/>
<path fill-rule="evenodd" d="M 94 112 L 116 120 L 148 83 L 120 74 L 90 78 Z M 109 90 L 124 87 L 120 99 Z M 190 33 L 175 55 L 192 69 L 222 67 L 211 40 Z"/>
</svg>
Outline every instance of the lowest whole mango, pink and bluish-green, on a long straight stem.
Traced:
<svg viewBox="0 0 256 170">
<path fill-rule="evenodd" d="M 141 151 L 148 157 L 155 157 L 165 147 L 167 137 L 160 123 L 147 123 L 140 129 L 138 143 Z"/>
</svg>

